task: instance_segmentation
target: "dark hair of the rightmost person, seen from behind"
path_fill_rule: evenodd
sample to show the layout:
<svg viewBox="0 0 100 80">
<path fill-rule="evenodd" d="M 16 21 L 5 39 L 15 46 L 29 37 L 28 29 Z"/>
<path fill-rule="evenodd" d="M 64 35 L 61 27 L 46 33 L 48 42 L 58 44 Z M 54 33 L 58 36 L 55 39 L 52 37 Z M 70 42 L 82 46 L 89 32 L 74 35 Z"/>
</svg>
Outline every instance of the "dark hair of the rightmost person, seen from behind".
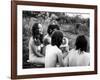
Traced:
<svg viewBox="0 0 100 80">
<path fill-rule="evenodd" d="M 76 46 L 76 50 L 80 49 L 80 51 L 87 51 L 86 37 L 84 35 L 78 36 L 76 39 L 75 46 Z"/>
</svg>

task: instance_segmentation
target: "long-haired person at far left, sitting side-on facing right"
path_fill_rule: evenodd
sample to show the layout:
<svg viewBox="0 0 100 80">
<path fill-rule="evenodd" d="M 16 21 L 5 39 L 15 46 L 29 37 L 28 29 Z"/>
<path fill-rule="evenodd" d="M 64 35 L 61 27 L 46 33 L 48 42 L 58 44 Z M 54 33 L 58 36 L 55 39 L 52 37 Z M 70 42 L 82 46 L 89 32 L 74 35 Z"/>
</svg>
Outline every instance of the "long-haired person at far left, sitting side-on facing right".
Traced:
<svg viewBox="0 0 100 80">
<path fill-rule="evenodd" d="M 44 55 L 41 52 L 43 46 L 43 28 L 39 23 L 32 27 L 32 36 L 29 40 L 29 60 L 30 63 L 44 64 Z"/>
</svg>

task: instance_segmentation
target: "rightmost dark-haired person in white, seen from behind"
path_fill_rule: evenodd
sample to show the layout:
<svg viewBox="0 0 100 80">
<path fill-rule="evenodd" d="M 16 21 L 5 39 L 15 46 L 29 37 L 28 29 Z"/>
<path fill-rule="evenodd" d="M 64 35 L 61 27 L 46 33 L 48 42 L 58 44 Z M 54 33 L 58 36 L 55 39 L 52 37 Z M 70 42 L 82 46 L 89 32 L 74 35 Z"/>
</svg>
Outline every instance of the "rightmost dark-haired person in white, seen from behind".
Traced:
<svg viewBox="0 0 100 80">
<path fill-rule="evenodd" d="M 84 35 L 76 38 L 75 46 L 64 58 L 64 66 L 89 66 L 90 54 L 86 52 L 87 40 Z"/>
</svg>

